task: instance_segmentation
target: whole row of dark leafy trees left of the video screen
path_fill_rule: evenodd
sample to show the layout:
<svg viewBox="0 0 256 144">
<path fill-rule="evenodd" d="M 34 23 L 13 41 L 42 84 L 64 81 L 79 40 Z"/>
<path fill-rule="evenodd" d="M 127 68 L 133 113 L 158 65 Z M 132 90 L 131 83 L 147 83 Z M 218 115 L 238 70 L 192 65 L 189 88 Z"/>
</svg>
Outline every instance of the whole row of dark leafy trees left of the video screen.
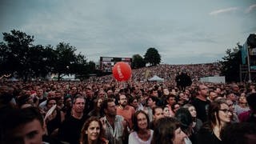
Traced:
<svg viewBox="0 0 256 144">
<path fill-rule="evenodd" d="M 47 74 L 58 74 L 58 80 L 64 74 L 88 75 L 93 65 L 86 57 L 75 54 L 75 47 L 60 42 L 53 46 L 34 46 L 34 36 L 19 30 L 2 33 L 4 42 L 0 42 L 0 74 L 12 74 L 23 81 L 31 78 L 45 78 Z M 95 68 L 94 68 L 95 69 Z"/>
</svg>

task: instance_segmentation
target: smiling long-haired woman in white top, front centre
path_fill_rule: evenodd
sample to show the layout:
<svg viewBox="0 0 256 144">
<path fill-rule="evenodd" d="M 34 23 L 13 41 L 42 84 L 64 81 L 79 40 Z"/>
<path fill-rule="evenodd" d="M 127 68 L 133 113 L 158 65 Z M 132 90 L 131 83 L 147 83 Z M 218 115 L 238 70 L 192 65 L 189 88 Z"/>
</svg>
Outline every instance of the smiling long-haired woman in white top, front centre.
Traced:
<svg viewBox="0 0 256 144">
<path fill-rule="evenodd" d="M 138 110 L 133 117 L 134 131 L 129 135 L 129 144 L 150 144 L 153 130 L 150 130 L 150 118 L 143 110 Z"/>
</svg>

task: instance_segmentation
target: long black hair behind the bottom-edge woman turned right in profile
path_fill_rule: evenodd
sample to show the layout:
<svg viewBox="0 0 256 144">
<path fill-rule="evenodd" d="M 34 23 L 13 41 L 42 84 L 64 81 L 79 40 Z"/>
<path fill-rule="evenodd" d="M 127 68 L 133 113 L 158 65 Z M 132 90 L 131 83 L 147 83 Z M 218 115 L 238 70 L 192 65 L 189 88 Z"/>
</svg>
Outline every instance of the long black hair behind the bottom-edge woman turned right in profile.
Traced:
<svg viewBox="0 0 256 144">
<path fill-rule="evenodd" d="M 181 129 L 185 134 L 191 133 L 191 126 L 193 123 L 192 116 L 190 114 L 190 111 L 186 108 L 181 107 L 178 109 L 175 113 L 175 118 L 178 119 L 179 122 L 181 122 Z"/>
</svg>

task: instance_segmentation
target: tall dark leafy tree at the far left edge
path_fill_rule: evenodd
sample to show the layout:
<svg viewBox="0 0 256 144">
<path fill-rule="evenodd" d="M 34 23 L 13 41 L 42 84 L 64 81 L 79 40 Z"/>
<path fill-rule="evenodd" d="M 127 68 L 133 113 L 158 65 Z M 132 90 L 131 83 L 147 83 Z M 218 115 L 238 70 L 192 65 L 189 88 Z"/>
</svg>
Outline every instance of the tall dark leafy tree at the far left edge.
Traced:
<svg viewBox="0 0 256 144">
<path fill-rule="evenodd" d="M 30 76 L 32 69 L 32 60 L 29 58 L 34 51 L 34 36 L 30 36 L 19 30 L 11 30 L 11 33 L 2 33 L 1 42 L 1 73 L 14 74 L 24 81 Z"/>
</svg>

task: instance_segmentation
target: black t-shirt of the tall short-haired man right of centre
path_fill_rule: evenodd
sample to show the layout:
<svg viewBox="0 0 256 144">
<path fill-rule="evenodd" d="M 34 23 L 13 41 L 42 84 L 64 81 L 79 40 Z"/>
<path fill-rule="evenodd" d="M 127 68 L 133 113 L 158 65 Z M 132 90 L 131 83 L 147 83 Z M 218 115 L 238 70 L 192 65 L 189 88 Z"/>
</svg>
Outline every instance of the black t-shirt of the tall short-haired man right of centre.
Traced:
<svg viewBox="0 0 256 144">
<path fill-rule="evenodd" d="M 210 101 L 202 101 L 198 98 L 195 98 L 192 102 L 195 110 L 197 110 L 197 118 L 199 118 L 202 122 L 207 121 L 207 113 L 208 113 L 208 107 L 210 105 Z"/>
</svg>

